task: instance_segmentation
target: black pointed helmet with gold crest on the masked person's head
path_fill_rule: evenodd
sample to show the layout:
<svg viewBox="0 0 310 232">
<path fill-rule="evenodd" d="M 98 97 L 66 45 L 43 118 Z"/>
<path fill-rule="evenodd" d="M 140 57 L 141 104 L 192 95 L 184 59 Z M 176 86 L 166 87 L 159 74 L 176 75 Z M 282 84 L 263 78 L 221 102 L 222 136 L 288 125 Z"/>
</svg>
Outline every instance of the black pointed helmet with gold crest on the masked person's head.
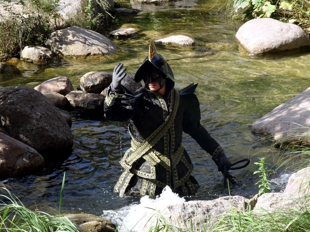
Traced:
<svg viewBox="0 0 310 232">
<path fill-rule="evenodd" d="M 135 74 L 135 82 L 139 83 L 143 78 L 143 73 L 152 67 L 157 68 L 160 72 L 162 72 L 162 74 L 171 80 L 174 80 L 174 75 L 169 64 L 160 54 L 157 53 L 153 41 L 150 43 L 148 56 L 144 59 L 142 65 L 139 67 Z"/>
</svg>

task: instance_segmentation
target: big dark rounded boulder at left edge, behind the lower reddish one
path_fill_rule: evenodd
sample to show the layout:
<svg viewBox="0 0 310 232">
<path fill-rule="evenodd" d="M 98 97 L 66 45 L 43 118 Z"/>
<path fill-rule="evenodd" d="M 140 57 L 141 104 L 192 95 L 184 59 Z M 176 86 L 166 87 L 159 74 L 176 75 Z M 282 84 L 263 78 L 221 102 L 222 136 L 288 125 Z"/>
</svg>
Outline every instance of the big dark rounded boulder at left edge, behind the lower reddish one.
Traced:
<svg viewBox="0 0 310 232">
<path fill-rule="evenodd" d="M 0 132 L 41 155 L 67 153 L 73 135 L 57 108 L 33 88 L 0 88 Z"/>
</svg>

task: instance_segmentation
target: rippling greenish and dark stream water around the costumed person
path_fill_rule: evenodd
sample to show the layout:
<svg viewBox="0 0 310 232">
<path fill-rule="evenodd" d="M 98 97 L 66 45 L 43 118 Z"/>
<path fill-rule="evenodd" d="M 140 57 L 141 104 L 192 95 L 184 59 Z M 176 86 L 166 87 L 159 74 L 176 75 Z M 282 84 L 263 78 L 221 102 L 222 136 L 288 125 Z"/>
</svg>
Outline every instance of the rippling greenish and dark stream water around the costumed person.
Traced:
<svg viewBox="0 0 310 232">
<path fill-rule="evenodd" d="M 138 15 L 113 20 L 104 35 L 131 23 L 139 28 L 139 37 L 116 41 L 121 55 L 100 61 L 61 60 L 57 64 L 38 66 L 19 63 L 22 75 L 2 76 L 0 86 L 26 85 L 35 87 L 47 79 L 67 76 L 76 88 L 79 79 L 89 71 L 112 72 L 117 62 L 124 63 L 127 72 L 135 72 L 148 53 L 151 39 L 182 32 L 197 41 L 193 48 L 158 46 L 158 52 L 166 58 L 175 75 L 177 88 L 199 83 L 197 97 L 201 103 L 201 124 L 226 150 L 232 162 L 251 158 L 244 169 L 231 171 L 237 182 L 230 194 L 247 198 L 258 192 L 258 170 L 254 164 L 259 157 L 266 157 L 272 167 L 281 152 L 266 149 L 271 144 L 261 136 L 251 133 L 250 124 L 277 105 L 294 97 L 309 86 L 308 53 L 274 57 L 250 57 L 239 52 L 235 34 L 240 22 L 232 22 L 221 6 L 224 2 L 207 0 L 181 1 L 169 5 L 139 5 Z M 212 49 L 214 55 L 189 57 Z M 187 57 L 187 58 L 186 58 Z M 65 173 L 62 212 L 93 213 L 117 210 L 139 202 L 139 197 L 120 197 L 113 187 L 122 173 L 119 160 L 130 146 L 130 136 L 125 122 L 72 113 L 74 146 L 71 156 L 48 166 L 43 173 L 20 179 L 8 179 L 20 200 L 29 207 L 51 211 L 58 209 L 60 189 Z M 222 174 L 195 141 L 184 134 L 184 147 L 192 157 L 193 176 L 200 183 L 197 195 L 185 200 L 211 200 L 228 195 L 223 187 Z M 264 149 L 264 151 L 262 151 Z M 289 165 L 289 164 L 288 164 Z M 273 167 L 274 168 L 274 167 Z M 285 167 L 282 168 L 285 170 Z M 273 191 L 283 191 L 283 178 L 292 170 L 278 171 L 272 176 Z"/>
</svg>

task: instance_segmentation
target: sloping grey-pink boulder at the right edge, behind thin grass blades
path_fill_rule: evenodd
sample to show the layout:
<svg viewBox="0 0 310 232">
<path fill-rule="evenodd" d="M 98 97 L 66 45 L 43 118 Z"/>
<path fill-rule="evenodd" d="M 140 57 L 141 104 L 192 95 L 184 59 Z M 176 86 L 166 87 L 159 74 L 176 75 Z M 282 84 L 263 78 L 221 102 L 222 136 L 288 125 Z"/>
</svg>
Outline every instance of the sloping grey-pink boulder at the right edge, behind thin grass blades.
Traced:
<svg viewBox="0 0 310 232">
<path fill-rule="evenodd" d="M 277 106 L 252 123 L 252 132 L 269 136 L 275 141 L 309 143 L 310 88 Z"/>
</svg>

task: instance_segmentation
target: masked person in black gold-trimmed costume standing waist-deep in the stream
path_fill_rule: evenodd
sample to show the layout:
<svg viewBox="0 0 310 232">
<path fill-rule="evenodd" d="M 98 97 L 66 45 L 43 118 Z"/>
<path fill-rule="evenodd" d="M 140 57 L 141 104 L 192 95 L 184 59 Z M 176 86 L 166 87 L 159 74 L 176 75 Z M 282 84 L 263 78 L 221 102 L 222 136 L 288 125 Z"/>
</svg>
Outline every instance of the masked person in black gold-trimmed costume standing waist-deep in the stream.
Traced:
<svg viewBox="0 0 310 232">
<path fill-rule="evenodd" d="M 126 68 L 118 63 L 104 103 L 105 117 L 129 120 L 131 148 L 120 164 L 125 169 L 114 187 L 120 195 L 159 195 L 169 186 L 180 195 L 194 195 L 199 187 L 191 175 L 193 163 L 182 146 L 182 132 L 189 134 L 218 165 L 231 165 L 223 148 L 200 124 L 197 84 L 174 88 L 174 76 L 165 59 L 150 44 L 149 54 L 135 74 L 144 86 L 131 93 L 121 85 Z"/>
</svg>

